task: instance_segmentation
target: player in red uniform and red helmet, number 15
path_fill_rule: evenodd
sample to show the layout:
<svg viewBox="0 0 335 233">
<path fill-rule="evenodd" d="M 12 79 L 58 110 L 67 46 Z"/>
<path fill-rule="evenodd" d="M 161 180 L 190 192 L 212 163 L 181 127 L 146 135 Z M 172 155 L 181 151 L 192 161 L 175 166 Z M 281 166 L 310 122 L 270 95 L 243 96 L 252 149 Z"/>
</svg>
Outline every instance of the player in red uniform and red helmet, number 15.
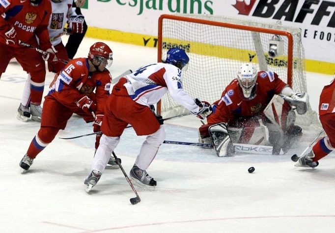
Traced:
<svg viewBox="0 0 335 233">
<path fill-rule="evenodd" d="M 36 156 L 54 140 L 60 129 L 65 128 L 74 113 L 82 116 L 87 123 L 94 121 L 93 131 L 100 131 L 112 80 L 106 66 L 111 65 L 111 48 L 98 42 L 90 47 L 88 58 L 71 60 L 56 75 L 45 96 L 41 127 L 20 162 L 23 169 L 29 169 Z M 98 148 L 100 137 L 96 137 L 95 148 Z"/>
</svg>

